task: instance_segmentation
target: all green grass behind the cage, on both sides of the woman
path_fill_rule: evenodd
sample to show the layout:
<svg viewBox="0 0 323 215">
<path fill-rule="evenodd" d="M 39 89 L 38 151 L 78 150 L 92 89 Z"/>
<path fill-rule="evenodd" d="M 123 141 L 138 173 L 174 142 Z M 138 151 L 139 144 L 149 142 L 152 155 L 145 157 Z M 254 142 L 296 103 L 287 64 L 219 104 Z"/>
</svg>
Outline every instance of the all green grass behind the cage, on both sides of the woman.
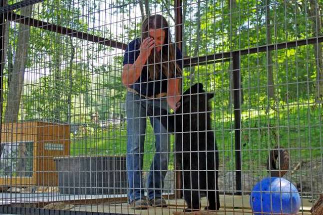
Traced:
<svg viewBox="0 0 323 215">
<path fill-rule="evenodd" d="M 225 171 L 234 170 L 234 117 L 228 112 L 216 112 L 219 115 L 213 116 L 215 119 L 213 128 L 220 151 L 220 165 Z M 264 169 L 269 151 L 277 144 L 289 150 L 291 165 L 300 161 L 322 159 L 323 132 L 320 121 L 322 117 L 322 108 L 307 105 L 290 105 L 288 108 L 280 108 L 279 112 L 270 111 L 267 114 L 264 110 L 243 111 L 241 120 L 243 170 L 267 174 Z M 147 125 L 144 170 L 149 169 L 155 151 L 154 135 L 148 121 Z M 70 153 L 73 156 L 126 154 L 125 126 L 109 129 L 91 128 L 87 135 L 71 139 Z M 171 142 L 174 142 L 173 138 Z M 174 168 L 173 160 L 171 153 L 169 169 Z"/>
</svg>

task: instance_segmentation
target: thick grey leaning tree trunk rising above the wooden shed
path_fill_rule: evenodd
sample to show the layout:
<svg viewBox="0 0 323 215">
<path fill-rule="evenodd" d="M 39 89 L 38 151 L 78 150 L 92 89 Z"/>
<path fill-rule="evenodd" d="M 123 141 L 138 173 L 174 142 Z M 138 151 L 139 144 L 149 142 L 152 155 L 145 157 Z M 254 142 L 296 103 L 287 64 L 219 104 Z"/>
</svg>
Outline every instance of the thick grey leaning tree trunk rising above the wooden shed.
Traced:
<svg viewBox="0 0 323 215">
<path fill-rule="evenodd" d="M 32 5 L 21 8 L 21 15 L 25 17 L 30 17 L 31 12 Z M 15 51 L 11 81 L 8 86 L 8 99 L 4 114 L 5 123 L 16 122 L 18 120 L 24 70 L 28 54 L 29 36 L 30 26 L 19 24 L 17 48 Z"/>
</svg>

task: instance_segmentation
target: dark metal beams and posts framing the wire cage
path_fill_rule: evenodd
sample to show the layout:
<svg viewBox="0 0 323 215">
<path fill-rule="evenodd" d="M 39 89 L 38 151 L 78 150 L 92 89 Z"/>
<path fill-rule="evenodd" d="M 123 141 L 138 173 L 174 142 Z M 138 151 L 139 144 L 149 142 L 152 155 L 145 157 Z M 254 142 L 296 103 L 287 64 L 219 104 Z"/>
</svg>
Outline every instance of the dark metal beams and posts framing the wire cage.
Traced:
<svg viewBox="0 0 323 215">
<path fill-rule="evenodd" d="M 4 5 L 4 0 L 0 0 L 0 135 L 2 134 L 2 91 L 3 91 L 3 69 L 4 69 L 4 59 L 3 59 L 3 38 L 4 38 L 4 23 L 9 21 L 14 21 L 17 23 L 22 23 L 25 25 L 45 29 L 48 31 L 52 31 L 55 33 L 60 33 L 66 36 L 75 37 L 83 40 L 88 40 L 91 42 L 99 43 L 102 45 L 110 46 L 113 48 L 118 48 L 125 50 L 127 44 L 117 42 L 114 40 L 106 39 L 103 37 L 98 37 L 95 35 L 91 35 L 88 33 L 84 33 L 81 31 L 76 31 L 67 27 L 55 25 L 52 23 L 44 22 L 41 20 L 24 17 L 22 15 L 18 15 L 12 10 L 19 9 L 21 7 L 42 2 L 43 0 L 23 0 L 18 3 L 14 3 L 11 5 Z M 179 49 L 182 49 L 182 41 L 183 41 L 183 18 L 182 18 L 182 0 L 175 0 L 175 20 L 176 20 L 176 30 L 175 30 L 175 42 Z M 235 130 L 235 166 L 236 166 L 236 192 L 235 195 L 242 195 L 242 176 L 241 176 L 241 136 L 240 136 L 240 124 L 241 124 L 241 74 L 240 74 L 240 58 L 244 55 L 249 55 L 253 53 L 261 53 L 273 50 L 294 48 L 298 46 L 310 45 L 310 44 L 318 44 L 323 42 L 323 36 L 316 36 L 307 39 L 294 40 L 289 42 L 268 44 L 259 47 L 252 47 L 247 49 L 223 52 L 223 53 L 214 53 L 211 55 L 197 56 L 197 57 L 183 57 L 183 67 L 192 67 L 201 63 L 204 64 L 214 64 L 214 63 L 223 63 L 227 61 L 232 61 L 233 63 L 233 93 L 234 93 L 234 130 Z M 1 137 L 1 136 L 0 136 Z M 177 177 L 176 181 L 176 189 L 180 184 L 180 177 Z M 177 191 L 176 196 L 180 195 L 180 191 Z M 176 197 L 175 196 L 175 197 Z M 24 209 L 24 211 L 23 211 Z M 59 213 L 55 213 L 59 212 Z M 75 212 L 75 211 L 56 211 L 56 210 L 44 210 L 44 209 L 30 209 L 30 208 L 17 208 L 17 207 L 7 207 L 0 206 L 0 213 L 17 213 L 17 214 L 25 214 L 25 215 L 49 215 L 49 214 L 60 214 L 60 215 L 103 215 L 113 213 L 95 213 L 95 212 Z"/>
</svg>

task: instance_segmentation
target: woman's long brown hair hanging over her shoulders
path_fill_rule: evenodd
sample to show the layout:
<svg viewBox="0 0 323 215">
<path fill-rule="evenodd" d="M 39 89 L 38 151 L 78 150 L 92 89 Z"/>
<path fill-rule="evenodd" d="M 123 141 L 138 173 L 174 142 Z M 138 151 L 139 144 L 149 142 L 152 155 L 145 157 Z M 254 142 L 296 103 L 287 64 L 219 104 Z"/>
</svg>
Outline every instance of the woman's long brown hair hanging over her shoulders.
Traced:
<svg viewBox="0 0 323 215">
<path fill-rule="evenodd" d="M 167 20 L 162 15 L 148 16 L 142 23 L 141 41 L 149 36 L 149 29 L 163 29 L 165 31 L 165 40 L 160 52 L 154 48 L 148 57 L 148 71 L 151 80 L 157 79 L 160 70 L 167 78 L 174 78 L 182 74 L 181 68 L 176 63 L 176 46 L 172 43 Z M 162 55 L 162 56 L 161 56 Z"/>
</svg>

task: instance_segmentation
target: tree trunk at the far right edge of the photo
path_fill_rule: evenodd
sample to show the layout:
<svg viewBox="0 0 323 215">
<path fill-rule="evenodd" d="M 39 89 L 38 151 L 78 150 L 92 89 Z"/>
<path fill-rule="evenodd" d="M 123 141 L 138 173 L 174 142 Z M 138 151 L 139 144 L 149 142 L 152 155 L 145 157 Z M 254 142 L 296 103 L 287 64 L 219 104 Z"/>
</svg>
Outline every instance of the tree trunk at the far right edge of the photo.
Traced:
<svg viewBox="0 0 323 215">
<path fill-rule="evenodd" d="M 310 0 L 309 13 L 312 19 L 312 30 L 313 36 L 321 36 L 321 10 L 320 4 L 317 0 Z M 317 90 L 316 90 L 316 102 L 319 104 L 323 103 L 323 56 L 322 56 L 322 44 L 314 44 L 314 54 L 316 59 L 316 72 L 317 72 Z"/>
</svg>

